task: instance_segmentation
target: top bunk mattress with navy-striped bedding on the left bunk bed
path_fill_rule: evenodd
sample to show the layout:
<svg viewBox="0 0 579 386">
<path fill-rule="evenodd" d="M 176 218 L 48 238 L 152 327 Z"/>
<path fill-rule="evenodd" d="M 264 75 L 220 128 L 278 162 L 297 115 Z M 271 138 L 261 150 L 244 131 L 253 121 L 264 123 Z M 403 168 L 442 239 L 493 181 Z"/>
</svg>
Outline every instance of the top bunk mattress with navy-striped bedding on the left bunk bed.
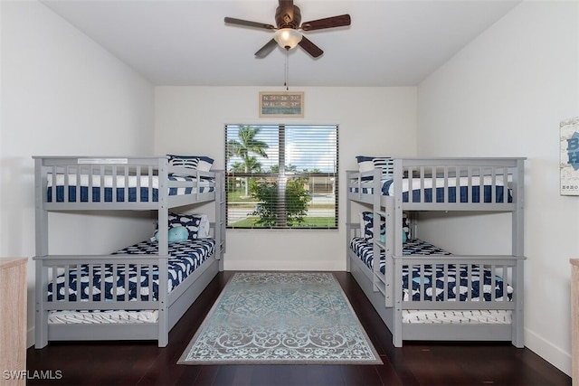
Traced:
<svg viewBox="0 0 579 386">
<path fill-rule="evenodd" d="M 52 174 L 48 174 L 47 180 L 47 202 L 52 202 L 53 186 L 56 188 L 56 200 L 54 202 L 65 202 L 64 193 L 67 185 L 68 198 L 66 202 L 76 202 L 77 189 L 79 188 L 80 202 L 101 202 L 101 187 L 104 195 L 103 202 L 158 202 L 159 181 L 157 175 L 56 174 L 56 180 L 53 184 Z M 169 195 L 214 192 L 214 180 L 212 179 L 201 178 L 197 182 L 195 177 L 170 175 L 168 180 L 188 182 L 191 183 L 190 185 L 195 185 L 169 188 Z M 149 199 L 149 188 L 152 200 Z"/>
</svg>

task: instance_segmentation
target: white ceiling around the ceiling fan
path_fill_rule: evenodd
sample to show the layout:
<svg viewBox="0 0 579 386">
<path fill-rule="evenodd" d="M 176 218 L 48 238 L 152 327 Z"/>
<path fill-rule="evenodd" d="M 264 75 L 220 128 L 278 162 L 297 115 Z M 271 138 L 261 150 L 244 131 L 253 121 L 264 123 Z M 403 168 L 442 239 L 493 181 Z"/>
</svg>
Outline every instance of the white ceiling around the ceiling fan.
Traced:
<svg viewBox="0 0 579 386">
<path fill-rule="evenodd" d="M 155 85 L 283 86 L 286 52 L 253 54 L 275 24 L 277 0 L 41 0 Z M 302 21 L 350 14 L 312 31 L 324 54 L 289 52 L 289 86 L 413 86 L 520 0 L 295 0 Z"/>
</svg>

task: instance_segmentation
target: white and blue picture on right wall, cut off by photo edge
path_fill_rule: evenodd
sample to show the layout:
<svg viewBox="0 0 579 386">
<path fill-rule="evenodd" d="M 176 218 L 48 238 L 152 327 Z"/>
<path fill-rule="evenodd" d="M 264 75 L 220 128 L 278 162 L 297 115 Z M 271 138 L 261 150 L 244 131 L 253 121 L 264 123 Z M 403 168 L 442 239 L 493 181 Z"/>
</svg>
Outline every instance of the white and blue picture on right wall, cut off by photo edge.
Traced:
<svg viewBox="0 0 579 386">
<path fill-rule="evenodd" d="M 560 130 L 560 193 L 579 195 L 579 117 L 561 121 Z"/>
</svg>

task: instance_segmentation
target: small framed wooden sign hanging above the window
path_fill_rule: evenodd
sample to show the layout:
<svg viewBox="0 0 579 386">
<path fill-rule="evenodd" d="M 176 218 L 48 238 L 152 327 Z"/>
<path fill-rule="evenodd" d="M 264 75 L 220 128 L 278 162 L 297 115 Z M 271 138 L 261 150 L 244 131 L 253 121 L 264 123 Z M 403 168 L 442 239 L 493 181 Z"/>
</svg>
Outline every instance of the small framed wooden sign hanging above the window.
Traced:
<svg viewBox="0 0 579 386">
<path fill-rule="evenodd" d="M 260 92 L 260 117 L 304 117 L 304 93 L 302 92 Z"/>
</svg>

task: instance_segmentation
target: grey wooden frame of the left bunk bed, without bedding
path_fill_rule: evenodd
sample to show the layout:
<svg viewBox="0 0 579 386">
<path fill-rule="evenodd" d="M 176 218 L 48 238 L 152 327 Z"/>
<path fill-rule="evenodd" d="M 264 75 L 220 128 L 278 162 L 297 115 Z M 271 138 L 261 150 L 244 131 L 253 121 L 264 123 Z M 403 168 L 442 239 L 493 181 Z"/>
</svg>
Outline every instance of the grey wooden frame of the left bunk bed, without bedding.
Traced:
<svg viewBox="0 0 579 386">
<path fill-rule="evenodd" d="M 86 157 L 86 156 L 33 156 L 35 177 L 35 232 L 36 232 L 36 315 L 35 315 L 35 347 L 43 348 L 49 341 L 64 340 L 157 340 L 159 347 L 168 344 L 168 334 L 176 322 L 185 314 L 204 288 L 223 270 L 223 253 L 225 252 L 225 198 L 223 171 L 202 172 L 168 165 L 167 156 L 128 156 L 128 157 Z M 196 177 L 196 182 L 171 181 L 168 176 L 172 173 Z M 74 175 L 77 181 L 81 175 L 90 174 L 89 191 L 92 187 L 100 186 L 100 202 L 93 202 L 92 193 L 89 193 L 88 202 L 81 202 L 80 191 L 76 189 L 76 202 L 68 202 L 69 177 L 64 177 L 64 202 L 56 202 L 56 178 L 49 175 Z M 158 179 L 158 200 L 153 201 L 153 187 L 140 186 L 138 189 L 148 189 L 147 201 L 138 197 L 134 202 L 128 202 L 128 176 L 140 176 L 138 181 L 152 181 Z M 113 188 L 124 188 L 124 201 L 117 201 L 113 194 L 111 202 L 104 200 L 105 178 L 112 177 Z M 120 177 L 120 178 L 116 178 Z M 124 178 L 123 178 L 124 177 Z M 206 177 L 203 186 L 212 186 L 212 192 L 197 189 L 201 177 Z M 210 178 L 211 180 L 207 180 Z M 52 202 L 47 200 L 47 185 L 52 180 Z M 207 182 L 210 181 L 210 182 Z M 94 185 L 93 185 L 94 184 Z M 72 184 L 71 184 L 72 186 Z M 169 195 L 169 188 L 193 188 L 196 193 Z M 139 194 L 138 194 L 139 195 Z M 179 206 L 215 202 L 215 221 L 211 223 L 211 233 L 215 240 L 214 254 L 206 259 L 201 266 L 195 269 L 183 282 L 168 293 L 168 212 Z M 50 255 L 48 217 L 49 212 L 72 211 L 156 211 L 158 217 L 158 253 L 152 255 Z M 158 267 L 158 296 L 157 300 L 142 301 L 102 300 L 87 301 L 78 297 L 76 301 L 56 300 L 49 301 L 48 284 L 57 273 L 64 272 L 68 276 L 71 269 L 80 271 L 81 266 L 87 266 L 92 272 L 93 267 L 104 267 L 105 264 L 115 268 L 128 268 L 129 265 L 141 268 Z M 128 270 L 128 269 L 127 269 Z M 148 293 L 153 294 L 153 280 L 148 280 Z M 101 286 L 105 280 L 101 280 Z M 122 288 L 113 286 L 113 293 L 124 291 L 128 294 L 128 278 Z M 139 285 L 140 286 L 140 285 Z M 138 287 L 139 288 L 139 287 Z M 68 291 L 68 280 L 65 290 Z M 79 289 L 80 290 L 80 289 Z M 139 292 L 139 291 L 138 291 Z M 104 293 L 100 287 L 100 293 Z M 124 323 L 124 324 L 49 324 L 48 313 L 51 310 L 157 310 L 157 323 Z"/>
</svg>

